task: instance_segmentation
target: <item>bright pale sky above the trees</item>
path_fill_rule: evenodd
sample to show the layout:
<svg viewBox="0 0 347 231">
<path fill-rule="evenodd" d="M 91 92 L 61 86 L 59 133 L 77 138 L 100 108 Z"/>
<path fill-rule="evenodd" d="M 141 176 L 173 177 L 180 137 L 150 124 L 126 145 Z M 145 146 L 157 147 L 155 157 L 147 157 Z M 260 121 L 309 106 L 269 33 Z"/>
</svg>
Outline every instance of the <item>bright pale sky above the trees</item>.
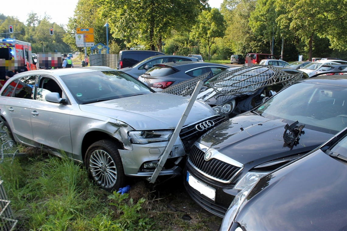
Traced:
<svg viewBox="0 0 347 231">
<path fill-rule="evenodd" d="M 36 13 L 40 18 L 43 18 L 43 16 L 47 14 L 52 18 L 52 20 L 50 20 L 51 23 L 54 22 L 59 25 L 66 25 L 69 21 L 69 17 L 74 16 L 74 10 L 78 0 L 11 0 L 9 2 L 11 2 L 12 6 L 16 7 L 1 7 L 0 14 L 17 17 L 19 21 L 24 24 L 30 12 Z M 55 2 L 55 5 L 53 5 L 52 2 Z M 211 8 L 219 8 L 222 2 L 223 0 L 209 0 Z"/>
</svg>

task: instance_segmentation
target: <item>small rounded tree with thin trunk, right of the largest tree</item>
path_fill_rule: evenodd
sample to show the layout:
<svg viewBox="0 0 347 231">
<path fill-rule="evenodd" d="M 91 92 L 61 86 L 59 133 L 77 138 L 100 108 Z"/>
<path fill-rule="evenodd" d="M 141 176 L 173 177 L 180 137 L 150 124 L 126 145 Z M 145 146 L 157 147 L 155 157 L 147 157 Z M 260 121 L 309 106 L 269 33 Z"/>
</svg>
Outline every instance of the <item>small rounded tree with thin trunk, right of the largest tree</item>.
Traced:
<svg viewBox="0 0 347 231">
<path fill-rule="evenodd" d="M 211 57 L 211 46 L 214 39 L 225 35 L 226 22 L 223 15 L 217 8 L 211 11 L 203 11 L 197 19 L 197 23 L 192 28 L 191 36 L 200 40 L 208 47 L 209 61 Z"/>
</svg>

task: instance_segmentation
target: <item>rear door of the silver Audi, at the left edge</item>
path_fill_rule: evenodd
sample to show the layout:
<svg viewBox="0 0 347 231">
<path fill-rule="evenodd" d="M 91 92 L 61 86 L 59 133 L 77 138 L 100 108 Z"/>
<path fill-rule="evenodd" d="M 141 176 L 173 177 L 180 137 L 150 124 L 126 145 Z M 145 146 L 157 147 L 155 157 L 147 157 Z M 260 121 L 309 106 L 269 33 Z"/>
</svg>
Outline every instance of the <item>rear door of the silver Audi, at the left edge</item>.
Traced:
<svg viewBox="0 0 347 231">
<path fill-rule="evenodd" d="M 9 124 L 16 141 L 28 145 L 34 145 L 30 107 L 33 101 L 33 86 L 35 86 L 36 79 L 37 75 L 15 79 L 1 95 L 1 105 L 4 105 L 1 114 Z M 11 79 L 8 81 L 11 81 Z"/>
</svg>

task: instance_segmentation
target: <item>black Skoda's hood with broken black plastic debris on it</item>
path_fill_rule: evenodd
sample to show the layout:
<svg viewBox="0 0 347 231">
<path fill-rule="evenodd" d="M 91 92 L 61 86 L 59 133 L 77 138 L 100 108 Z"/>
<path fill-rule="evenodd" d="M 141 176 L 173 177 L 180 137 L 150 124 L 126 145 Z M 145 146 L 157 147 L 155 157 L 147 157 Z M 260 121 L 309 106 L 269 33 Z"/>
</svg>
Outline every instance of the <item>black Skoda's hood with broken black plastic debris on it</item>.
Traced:
<svg viewBox="0 0 347 231">
<path fill-rule="evenodd" d="M 333 136 L 304 127 L 298 144 L 291 147 L 283 141 L 286 124 L 248 112 L 212 128 L 198 142 L 241 163 L 256 165 L 311 151 Z"/>
</svg>

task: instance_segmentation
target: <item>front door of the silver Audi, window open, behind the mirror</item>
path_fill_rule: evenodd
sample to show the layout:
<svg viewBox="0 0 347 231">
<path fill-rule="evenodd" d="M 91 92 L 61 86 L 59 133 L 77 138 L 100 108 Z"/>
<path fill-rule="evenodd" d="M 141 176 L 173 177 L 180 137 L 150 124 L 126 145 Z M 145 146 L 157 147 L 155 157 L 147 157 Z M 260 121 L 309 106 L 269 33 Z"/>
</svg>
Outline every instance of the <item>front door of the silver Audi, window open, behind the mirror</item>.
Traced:
<svg viewBox="0 0 347 231">
<path fill-rule="evenodd" d="M 71 105 L 46 101 L 45 95 L 50 92 L 58 92 L 61 98 L 66 98 L 64 91 L 54 77 L 41 76 L 30 108 L 33 140 L 51 148 L 63 150 L 69 156 L 69 153 L 72 152 Z"/>
</svg>

